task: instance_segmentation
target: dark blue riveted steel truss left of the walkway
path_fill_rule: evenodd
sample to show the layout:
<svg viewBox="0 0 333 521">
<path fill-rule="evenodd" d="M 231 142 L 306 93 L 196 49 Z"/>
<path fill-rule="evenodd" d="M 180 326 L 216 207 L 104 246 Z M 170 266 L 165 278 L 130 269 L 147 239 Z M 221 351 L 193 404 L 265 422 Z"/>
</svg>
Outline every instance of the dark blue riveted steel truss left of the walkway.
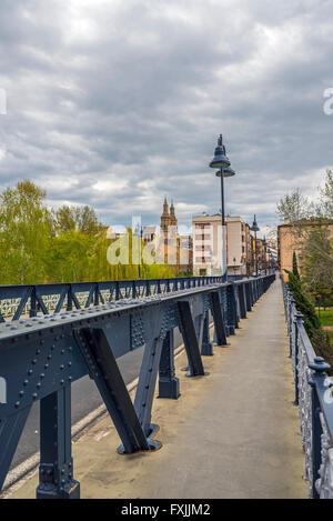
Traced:
<svg viewBox="0 0 333 521">
<path fill-rule="evenodd" d="M 210 317 L 215 344 L 225 345 L 226 337 L 235 333 L 240 319 L 246 318 L 274 279 L 272 274 L 228 283 L 216 278 L 124 281 L 115 285 L 94 282 L 83 309 L 77 303 L 77 291 L 87 292 L 87 284 L 60 284 L 62 300 L 53 313 L 46 309 L 43 297 L 54 294 L 56 284 L 51 290 L 27 287 L 16 317 L 18 311 L 22 313 L 27 298 L 34 314 L 0 324 L 0 382 L 7 387 L 0 394 L 0 490 L 31 407 L 40 401 L 37 497 L 80 495 L 71 455 L 71 384 L 87 374 L 94 380 L 121 438 L 119 452 L 159 448 L 153 439 L 157 425 L 151 423 L 158 377 L 161 398 L 180 395 L 174 371 L 174 331 L 179 329 L 183 338 L 188 375 L 205 375 L 202 357 L 213 354 Z M 119 298 L 113 299 L 110 284 L 115 291 L 129 287 L 134 298 L 121 299 L 119 292 Z M 153 287 L 158 288 L 154 293 Z M 143 295 L 138 294 L 140 288 Z M 101 299 L 104 289 L 109 290 L 108 302 Z M 1 290 L 2 298 L 18 298 L 18 287 Z M 59 312 L 65 295 L 77 310 Z M 41 309 L 39 314 L 36 302 Z M 132 403 L 115 359 L 138 348 L 143 348 L 143 358 Z"/>
</svg>

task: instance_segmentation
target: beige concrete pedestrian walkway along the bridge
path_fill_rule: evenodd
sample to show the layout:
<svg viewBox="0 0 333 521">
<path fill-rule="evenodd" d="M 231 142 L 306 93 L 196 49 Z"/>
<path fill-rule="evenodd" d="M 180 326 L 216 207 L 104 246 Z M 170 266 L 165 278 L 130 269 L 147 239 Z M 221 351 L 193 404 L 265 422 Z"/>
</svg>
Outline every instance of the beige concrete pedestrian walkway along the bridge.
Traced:
<svg viewBox="0 0 333 521">
<path fill-rule="evenodd" d="M 118 454 L 108 417 L 73 444 L 82 498 L 307 498 L 279 281 L 240 325 L 204 357 L 209 375 L 185 378 L 176 359 L 181 397 L 154 400 L 160 451 Z M 11 497 L 34 498 L 37 483 Z"/>
</svg>

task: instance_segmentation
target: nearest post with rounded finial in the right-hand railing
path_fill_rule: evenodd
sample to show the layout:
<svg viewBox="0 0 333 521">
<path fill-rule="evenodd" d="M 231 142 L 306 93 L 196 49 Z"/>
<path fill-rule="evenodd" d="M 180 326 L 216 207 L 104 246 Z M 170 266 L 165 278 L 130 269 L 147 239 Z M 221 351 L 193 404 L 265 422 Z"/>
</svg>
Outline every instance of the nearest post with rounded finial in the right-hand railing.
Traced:
<svg viewBox="0 0 333 521">
<path fill-rule="evenodd" d="M 316 357 L 314 363 L 310 363 L 309 368 L 314 372 L 309 380 L 311 385 L 311 399 L 312 399 L 312 483 L 311 483 L 311 497 L 312 499 L 319 499 L 320 494 L 316 490 L 315 483 L 320 479 L 320 467 L 322 463 L 322 443 L 321 435 L 323 432 L 320 412 L 321 405 L 316 392 L 316 384 L 321 380 L 325 379 L 325 372 L 331 369 L 331 365 L 324 361 L 323 358 Z"/>
</svg>

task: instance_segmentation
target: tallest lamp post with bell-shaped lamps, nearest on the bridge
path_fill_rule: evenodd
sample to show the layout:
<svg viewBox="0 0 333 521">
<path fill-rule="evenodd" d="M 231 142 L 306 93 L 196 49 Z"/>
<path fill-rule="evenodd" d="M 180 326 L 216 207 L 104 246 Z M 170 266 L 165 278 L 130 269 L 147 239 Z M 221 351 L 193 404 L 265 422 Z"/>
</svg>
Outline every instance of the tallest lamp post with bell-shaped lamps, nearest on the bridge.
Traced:
<svg viewBox="0 0 333 521">
<path fill-rule="evenodd" d="M 215 148 L 214 158 L 210 162 L 210 167 L 219 169 L 215 173 L 221 178 L 221 214 L 222 214 L 222 282 L 228 281 L 228 261 L 226 261 L 226 242 L 225 242 L 225 216 L 224 216 L 224 178 L 230 178 L 235 174 L 235 171 L 230 168 L 230 160 L 225 153 L 222 134 L 218 139 L 218 147 Z"/>
</svg>

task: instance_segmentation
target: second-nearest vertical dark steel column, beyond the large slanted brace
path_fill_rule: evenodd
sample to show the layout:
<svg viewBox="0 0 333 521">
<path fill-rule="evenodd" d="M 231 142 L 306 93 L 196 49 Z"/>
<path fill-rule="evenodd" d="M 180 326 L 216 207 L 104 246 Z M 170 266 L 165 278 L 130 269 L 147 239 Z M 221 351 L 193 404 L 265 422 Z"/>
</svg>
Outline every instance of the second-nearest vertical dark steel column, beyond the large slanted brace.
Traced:
<svg viewBox="0 0 333 521">
<path fill-rule="evenodd" d="M 160 378 L 159 378 L 159 398 L 171 398 L 176 400 L 180 395 L 179 379 L 174 371 L 174 338 L 173 329 L 167 332 L 163 340 Z"/>
</svg>

